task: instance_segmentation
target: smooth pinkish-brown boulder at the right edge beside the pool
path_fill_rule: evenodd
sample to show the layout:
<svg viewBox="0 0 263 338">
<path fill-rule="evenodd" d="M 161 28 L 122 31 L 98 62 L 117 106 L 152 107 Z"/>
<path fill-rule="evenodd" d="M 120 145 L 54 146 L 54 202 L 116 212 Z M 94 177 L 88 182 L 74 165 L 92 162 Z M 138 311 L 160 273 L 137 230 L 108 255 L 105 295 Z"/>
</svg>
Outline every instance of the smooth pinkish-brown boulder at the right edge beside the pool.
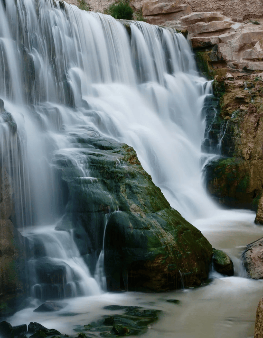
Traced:
<svg viewBox="0 0 263 338">
<path fill-rule="evenodd" d="M 263 238 L 248 244 L 242 257 L 248 275 L 263 279 Z"/>
</svg>

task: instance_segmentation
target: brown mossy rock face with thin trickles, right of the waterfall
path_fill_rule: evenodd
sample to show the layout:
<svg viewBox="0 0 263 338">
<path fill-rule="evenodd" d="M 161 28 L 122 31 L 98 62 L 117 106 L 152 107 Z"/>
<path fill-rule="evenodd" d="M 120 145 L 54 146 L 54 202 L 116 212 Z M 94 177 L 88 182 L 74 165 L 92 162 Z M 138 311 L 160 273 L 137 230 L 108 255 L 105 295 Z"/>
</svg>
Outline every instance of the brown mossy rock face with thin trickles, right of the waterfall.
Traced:
<svg viewBox="0 0 263 338">
<path fill-rule="evenodd" d="M 211 196 L 229 207 L 258 210 L 257 224 L 263 223 L 262 85 L 261 73 L 236 71 L 215 76 L 219 106 L 209 121 L 204 143 L 205 150 L 223 156 L 205 169 Z"/>
</svg>

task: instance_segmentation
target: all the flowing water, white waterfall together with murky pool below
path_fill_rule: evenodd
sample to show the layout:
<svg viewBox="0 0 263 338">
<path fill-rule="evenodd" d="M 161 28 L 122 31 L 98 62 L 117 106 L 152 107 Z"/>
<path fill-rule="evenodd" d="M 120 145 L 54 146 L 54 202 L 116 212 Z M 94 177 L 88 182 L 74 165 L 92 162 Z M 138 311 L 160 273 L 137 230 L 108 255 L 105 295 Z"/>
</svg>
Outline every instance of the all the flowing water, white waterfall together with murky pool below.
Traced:
<svg viewBox="0 0 263 338">
<path fill-rule="evenodd" d="M 199 77 L 182 34 L 144 22 L 125 25 L 63 2 L 0 0 L 1 180 L 14 190 L 12 221 L 34 253 L 31 305 L 8 320 L 73 334 L 74 325 L 109 314 L 103 305 L 139 305 L 162 310 L 145 337 L 253 336 L 262 284 L 246 278 L 240 255 L 262 231 L 254 213 L 221 210 L 203 188 L 201 164 L 213 156 L 200 150 L 211 82 Z M 72 231 L 55 230 L 65 210 L 59 161 L 71 163 L 83 189 L 100 193 L 77 146 L 90 134 L 133 146 L 171 206 L 228 252 L 235 276 L 212 272 L 206 287 L 165 294 L 104 292 L 104 236 L 107 217 L 118 212 L 114 202 L 92 271 Z M 39 266 L 57 268 L 61 280 L 46 283 Z M 52 315 L 33 312 L 54 297 L 67 297 L 67 307 Z M 169 298 L 182 303 L 176 308 Z"/>
</svg>

